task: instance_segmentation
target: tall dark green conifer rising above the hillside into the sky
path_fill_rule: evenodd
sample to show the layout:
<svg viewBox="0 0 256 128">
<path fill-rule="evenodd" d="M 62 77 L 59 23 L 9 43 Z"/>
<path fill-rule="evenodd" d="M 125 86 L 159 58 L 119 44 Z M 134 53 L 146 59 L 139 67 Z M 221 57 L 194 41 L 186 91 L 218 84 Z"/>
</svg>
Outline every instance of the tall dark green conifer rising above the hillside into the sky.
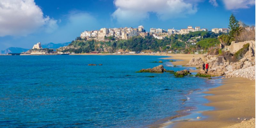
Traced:
<svg viewBox="0 0 256 128">
<path fill-rule="evenodd" d="M 234 14 L 232 13 L 230 18 L 229 18 L 229 25 L 228 25 L 229 29 L 230 29 L 230 36 L 231 37 L 235 37 L 235 36 L 238 36 L 239 35 L 239 22 L 238 20 L 236 20 L 236 17 L 234 16 Z"/>
</svg>

